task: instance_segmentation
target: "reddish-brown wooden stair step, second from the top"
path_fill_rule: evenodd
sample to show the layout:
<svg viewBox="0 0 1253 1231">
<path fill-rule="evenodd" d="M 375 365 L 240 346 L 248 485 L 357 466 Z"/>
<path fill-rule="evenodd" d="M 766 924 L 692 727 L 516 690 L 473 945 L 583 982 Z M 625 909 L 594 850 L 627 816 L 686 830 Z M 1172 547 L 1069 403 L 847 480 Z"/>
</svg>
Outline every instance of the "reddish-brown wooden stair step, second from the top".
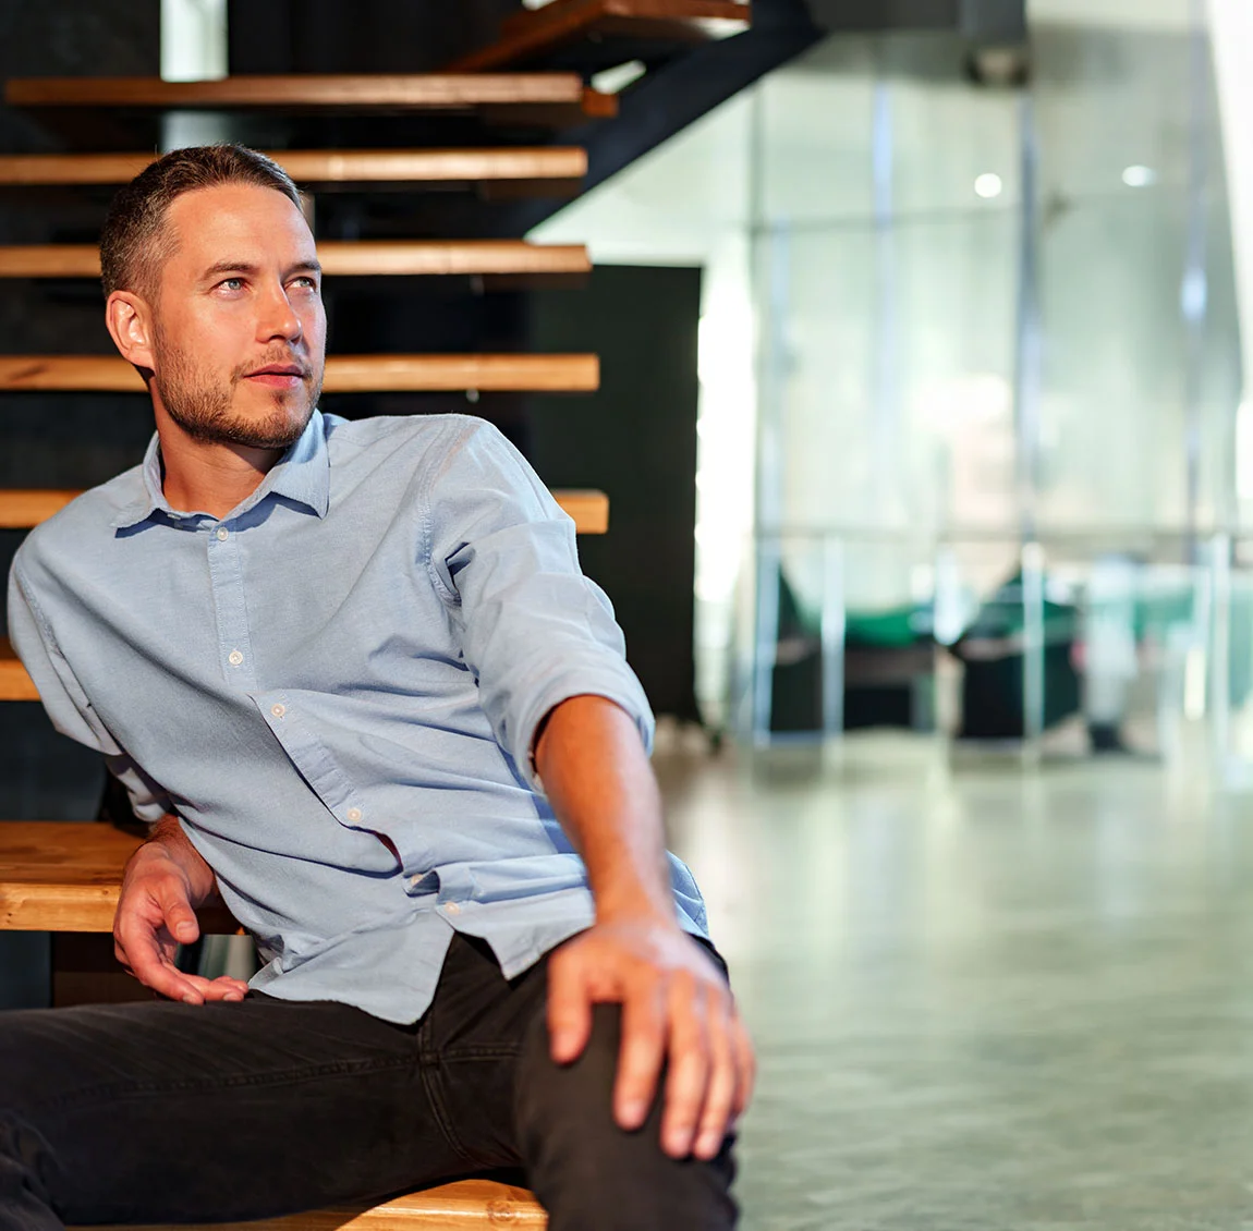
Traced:
<svg viewBox="0 0 1253 1231">
<path fill-rule="evenodd" d="M 159 78 L 13 78 L 5 101 L 25 108 L 128 108 L 219 111 L 402 113 L 475 111 L 509 121 L 576 124 L 616 114 L 618 100 L 583 84 L 578 73 L 291 74 L 219 81 Z"/>
</svg>

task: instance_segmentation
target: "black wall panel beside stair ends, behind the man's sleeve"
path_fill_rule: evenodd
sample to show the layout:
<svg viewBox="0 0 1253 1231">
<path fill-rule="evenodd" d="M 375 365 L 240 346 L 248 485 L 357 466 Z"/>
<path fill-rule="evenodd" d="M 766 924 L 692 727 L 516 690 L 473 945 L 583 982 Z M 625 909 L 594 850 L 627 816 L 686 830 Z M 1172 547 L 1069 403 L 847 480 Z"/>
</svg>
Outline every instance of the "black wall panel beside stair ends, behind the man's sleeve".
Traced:
<svg viewBox="0 0 1253 1231">
<path fill-rule="evenodd" d="M 595 351 L 594 397 L 531 399 L 526 450 L 551 487 L 609 495 L 584 570 L 609 594 L 653 709 L 697 719 L 697 327 L 700 270 L 600 265 L 579 293 L 534 297 L 536 351 Z"/>
</svg>

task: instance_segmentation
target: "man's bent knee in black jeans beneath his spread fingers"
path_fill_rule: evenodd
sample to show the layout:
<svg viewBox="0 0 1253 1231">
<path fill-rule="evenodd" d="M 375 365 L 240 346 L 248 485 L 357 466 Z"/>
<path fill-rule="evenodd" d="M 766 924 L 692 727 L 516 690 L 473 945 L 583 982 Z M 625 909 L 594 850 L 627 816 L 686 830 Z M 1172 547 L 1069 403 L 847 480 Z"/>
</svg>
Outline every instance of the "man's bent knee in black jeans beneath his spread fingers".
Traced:
<svg viewBox="0 0 1253 1231">
<path fill-rule="evenodd" d="M 543 1021 L 528 1034 L 516 1092 L 517 1132 L 551 1231 L 734 1226 L 729 1138 L 710 1162 L 670 1158 L 660 1146 L 660 1096 L 639 1130 L 628 1132 L 614 1121 L 620 1024 L 616 1004 L 595 1006 L 588 1046 L 565 1066 L 551 1061 Z M 659 1089 L 664 1078 L 663 1072 Z"/>
</svg>

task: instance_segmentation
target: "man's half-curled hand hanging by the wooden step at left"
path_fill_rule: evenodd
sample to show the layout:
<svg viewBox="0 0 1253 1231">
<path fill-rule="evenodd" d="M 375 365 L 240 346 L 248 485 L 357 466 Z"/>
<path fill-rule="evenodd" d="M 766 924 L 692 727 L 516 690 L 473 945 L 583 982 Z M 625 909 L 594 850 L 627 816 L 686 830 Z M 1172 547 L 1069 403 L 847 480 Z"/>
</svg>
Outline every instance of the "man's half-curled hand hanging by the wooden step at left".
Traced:
<svg viewBox="0 0 1253 1231">
<path fill-rule="evenodd" d="M 239 979 L 207 979 L 174 966 L 178 945 L 200 934 L 193 904 L 212 892 L 213 872 L 177 822 L 163 822 L 153 840 L 130 857 L 113 917 L 113 952 L 144 987 L 187 1004 L 243 999 L 248 984 Z"/>
</svg>

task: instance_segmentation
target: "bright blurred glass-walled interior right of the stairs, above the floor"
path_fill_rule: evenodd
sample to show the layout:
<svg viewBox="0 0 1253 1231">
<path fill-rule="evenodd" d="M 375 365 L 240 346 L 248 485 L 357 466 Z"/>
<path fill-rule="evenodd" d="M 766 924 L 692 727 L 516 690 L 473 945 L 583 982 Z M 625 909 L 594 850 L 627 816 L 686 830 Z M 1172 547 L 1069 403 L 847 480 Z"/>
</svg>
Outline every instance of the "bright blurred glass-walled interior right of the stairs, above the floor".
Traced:
<svg viewBox="0 0 1253 1231">
<path fill-rule="evenodd" d="M 1222 18 L 1032 0 L 831 34 L 539 229 L 704 269 L 707 724 L 1245 776 Z"/>
</svg>

